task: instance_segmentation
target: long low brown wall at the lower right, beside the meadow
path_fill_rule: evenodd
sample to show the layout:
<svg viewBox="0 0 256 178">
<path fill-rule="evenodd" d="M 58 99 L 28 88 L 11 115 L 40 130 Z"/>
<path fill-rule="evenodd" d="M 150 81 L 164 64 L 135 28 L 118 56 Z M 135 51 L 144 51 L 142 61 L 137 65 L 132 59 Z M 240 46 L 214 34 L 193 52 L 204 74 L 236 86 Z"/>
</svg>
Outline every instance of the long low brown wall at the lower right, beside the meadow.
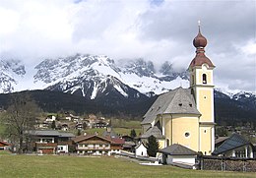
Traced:
<svg viewBox="0 0 256 178">
<path fill-rule="evenodd" d="M 203 170 L 256 172 L 256 159 L 204 155 L 199 160 L 199 168 Z"/>
</svg>

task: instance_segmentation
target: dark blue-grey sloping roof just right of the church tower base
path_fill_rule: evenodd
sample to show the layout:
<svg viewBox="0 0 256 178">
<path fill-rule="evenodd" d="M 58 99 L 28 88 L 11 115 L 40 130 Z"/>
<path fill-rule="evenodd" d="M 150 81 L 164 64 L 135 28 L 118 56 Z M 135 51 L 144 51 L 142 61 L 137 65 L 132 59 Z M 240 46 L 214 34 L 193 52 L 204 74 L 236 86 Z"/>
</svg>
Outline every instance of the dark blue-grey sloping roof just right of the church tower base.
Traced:
<svg viewBox="0 0 256 178">
<path fill-rule="evenodd" d="M 225 151 L 240 148 L 242 146 L 251 145 L 248 141 L 246 141 L 242 136 L 238 134 L 231 135 L 228 139 L 224 141 L 224 143 L 212 153 L 213 155 L 219 155 L 224 153 Z"/>
</svg>

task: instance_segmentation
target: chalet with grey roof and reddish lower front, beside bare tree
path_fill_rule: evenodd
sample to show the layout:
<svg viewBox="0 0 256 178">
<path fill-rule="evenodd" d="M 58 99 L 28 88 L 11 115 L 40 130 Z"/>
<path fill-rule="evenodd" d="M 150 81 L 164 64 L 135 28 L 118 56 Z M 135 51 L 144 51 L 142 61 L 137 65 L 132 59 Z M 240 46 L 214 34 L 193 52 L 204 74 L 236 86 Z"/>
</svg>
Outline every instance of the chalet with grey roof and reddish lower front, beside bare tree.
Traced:
<svg viewBox="0 0 256 178">
<path fill-rule="evenodd" d="M 72 145 L 71 133 L 61 133 L 53 130 L 31 131 L 32 148 L 41 153 L 68 152 Z"/>
</svg>

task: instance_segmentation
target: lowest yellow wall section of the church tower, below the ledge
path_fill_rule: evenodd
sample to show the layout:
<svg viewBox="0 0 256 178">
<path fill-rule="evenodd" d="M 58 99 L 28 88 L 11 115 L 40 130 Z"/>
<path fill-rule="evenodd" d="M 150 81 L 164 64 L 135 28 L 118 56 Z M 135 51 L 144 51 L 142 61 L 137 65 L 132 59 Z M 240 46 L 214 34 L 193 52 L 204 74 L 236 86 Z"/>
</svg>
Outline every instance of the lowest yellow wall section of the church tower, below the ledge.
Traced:
<svg viewBox="0 0 256 178">
<path fill-rule="evenodd" d="M 200 126 L 200 151 L 205 155 L 212 153 L 212 127 L 211 126 Z"/>
</svg>

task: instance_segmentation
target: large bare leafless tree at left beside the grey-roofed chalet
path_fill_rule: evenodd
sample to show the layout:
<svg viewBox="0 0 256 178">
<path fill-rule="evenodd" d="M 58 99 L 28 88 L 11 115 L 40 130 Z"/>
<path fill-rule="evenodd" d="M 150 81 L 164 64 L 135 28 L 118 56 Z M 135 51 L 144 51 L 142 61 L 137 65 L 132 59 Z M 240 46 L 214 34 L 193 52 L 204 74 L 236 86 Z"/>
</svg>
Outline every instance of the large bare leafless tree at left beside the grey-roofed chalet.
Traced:
<svg viewBox="0 0 256 178">
<path fill-rule="evenodd" d="M 11 104 L 4 116 L 6 132 L 12 140 L 19 144 L 19 153 L 24 150 L 24 141 L 28 132 L 34 128 L 38 106 L 26 93 L 13 95 Z"/>
</svg>

